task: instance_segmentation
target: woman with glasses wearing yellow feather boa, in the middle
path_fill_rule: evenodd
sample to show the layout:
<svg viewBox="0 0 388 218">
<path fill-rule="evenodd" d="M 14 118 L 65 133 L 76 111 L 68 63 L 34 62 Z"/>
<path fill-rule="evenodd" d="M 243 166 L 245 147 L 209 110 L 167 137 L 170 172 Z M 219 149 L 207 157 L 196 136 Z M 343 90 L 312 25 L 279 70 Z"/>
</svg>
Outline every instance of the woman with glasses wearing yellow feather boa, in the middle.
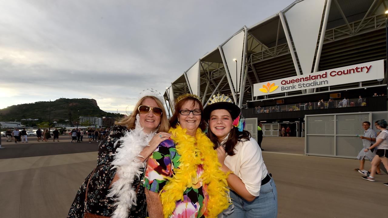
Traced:
<svg viewBox="0 0 388 218">
<path fill-rule="evenodd" d="M 202 112 L 196 95 L 178 97 L 170 119 L 171 138 L 161 142 L 147 163 L 144 186 L 150 218 L 215 218 L 229 205 L 226 175 L 203 133 Z"/>
</svg>

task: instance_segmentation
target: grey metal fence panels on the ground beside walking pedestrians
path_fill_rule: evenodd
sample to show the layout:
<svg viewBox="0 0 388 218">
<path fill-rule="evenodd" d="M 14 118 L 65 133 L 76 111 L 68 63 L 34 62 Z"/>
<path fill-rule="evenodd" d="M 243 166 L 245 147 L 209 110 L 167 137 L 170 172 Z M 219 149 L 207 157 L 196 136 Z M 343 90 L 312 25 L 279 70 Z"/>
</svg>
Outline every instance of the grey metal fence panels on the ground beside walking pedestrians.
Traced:
<svg viewBox="0 0 388 218">
<path fill-rule="evenodd" d="M 313 156 L 357 158 L 363 148 L 357 135 L 364 135 L 362 123 L 388 120 L 387 111 L 305 116 L 305 154 Z"/>
</svg>

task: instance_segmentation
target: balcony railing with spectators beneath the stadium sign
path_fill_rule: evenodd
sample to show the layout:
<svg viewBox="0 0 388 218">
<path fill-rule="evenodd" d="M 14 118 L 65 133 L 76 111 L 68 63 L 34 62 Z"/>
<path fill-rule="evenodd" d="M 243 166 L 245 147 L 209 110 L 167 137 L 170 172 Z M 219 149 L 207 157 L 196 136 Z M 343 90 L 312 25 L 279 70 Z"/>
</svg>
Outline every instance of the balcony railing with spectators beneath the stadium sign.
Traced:
<svg viewBox="0 0 388 218">
<path fill-rule="evenodd" d="M 347 100 L 321 100 L 319 102 L 308 102 L 299 104 L 288 104 L 281 106 L 269 106 L 269 107 L 255 107 L 253 109 L 254 114 L 260 113 L 273 113 L 273 112 L 286 112 L 286 111 L 304 111 L 304 110 L 316 110 L 327 108 L 340 108 L 340 107 L 362 107 L 366 106 L 366 98 L 359 99 L 347 99 Z"/>
</svg>

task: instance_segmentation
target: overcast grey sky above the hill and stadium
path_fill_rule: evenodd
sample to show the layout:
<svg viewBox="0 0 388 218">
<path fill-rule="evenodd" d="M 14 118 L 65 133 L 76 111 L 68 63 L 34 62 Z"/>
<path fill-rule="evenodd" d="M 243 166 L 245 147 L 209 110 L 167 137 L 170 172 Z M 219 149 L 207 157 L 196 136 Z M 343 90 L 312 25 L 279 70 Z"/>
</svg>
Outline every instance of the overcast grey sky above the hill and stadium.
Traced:
<svg viewBox="0 0 388 218">
<path fill-rule="evenodd" d="M 294 0 L 0 0 L 0 109 L 63 98 L 132 111 Z"/>
</svg>

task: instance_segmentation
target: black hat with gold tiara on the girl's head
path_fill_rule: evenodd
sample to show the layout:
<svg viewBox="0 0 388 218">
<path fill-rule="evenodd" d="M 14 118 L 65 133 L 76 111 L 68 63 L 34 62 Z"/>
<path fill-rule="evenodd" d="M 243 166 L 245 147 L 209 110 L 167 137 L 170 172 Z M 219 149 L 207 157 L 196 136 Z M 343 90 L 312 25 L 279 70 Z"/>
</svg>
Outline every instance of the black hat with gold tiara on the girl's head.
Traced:
<svg viewBox="0 0 388 218">
<path fill-rule="evenodd" d="M 241 109 L 237 105 L 233 104 L 229 97 L 218 94 L 217 96 L 214 96 L 210 104 L 203 110 L 203 118 L 208 121 L 210 119 L 211 111 L 217 109 L 228 110 L 232 116 L 232 119 L 236 119 L 241 113 Z"/>
</svg>

